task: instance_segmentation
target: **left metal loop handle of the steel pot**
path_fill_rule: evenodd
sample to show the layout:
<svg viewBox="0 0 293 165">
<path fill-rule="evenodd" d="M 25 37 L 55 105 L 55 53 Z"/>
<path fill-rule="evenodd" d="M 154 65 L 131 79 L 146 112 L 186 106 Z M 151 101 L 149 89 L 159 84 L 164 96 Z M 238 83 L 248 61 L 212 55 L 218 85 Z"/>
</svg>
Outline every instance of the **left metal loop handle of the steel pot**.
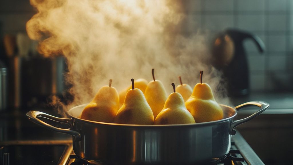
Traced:
<svg viewBox="0 0 293 165">
<path fill-rule="evenodd" d="M 39 111 L 29 111 L 28 113 L 26 113 L 26 116 L 28 117 L 29 120 L 31 120 L 32 122 L 34 122 L 36 124 L 39 124 L 40 126 L 43 126 L 45 128 L 51 129 L 56 132 L 61 132 L 61 133 L 72 135 L 73 140 L 75 140 L 75 141 L 80 141 L 80 139 L 81 139 L 81 134 L 79 132 L 77 132 L 75 130 L 71 130 L 71 129 L 54 127 L 54 126 L 38 119 L 38 117 L 45 117 L 47 119 L 50 119 L 50 120 L 53 120 L 56 122 L 66 123 L 66 124 L 69 124 L 70 127 L 72 127 L 72 120 L 71 119 L 59 118 L 59 117 L 55 117 L 55 116 L 46 114 L 44 112 L 39 112 Z"/>
</svg>

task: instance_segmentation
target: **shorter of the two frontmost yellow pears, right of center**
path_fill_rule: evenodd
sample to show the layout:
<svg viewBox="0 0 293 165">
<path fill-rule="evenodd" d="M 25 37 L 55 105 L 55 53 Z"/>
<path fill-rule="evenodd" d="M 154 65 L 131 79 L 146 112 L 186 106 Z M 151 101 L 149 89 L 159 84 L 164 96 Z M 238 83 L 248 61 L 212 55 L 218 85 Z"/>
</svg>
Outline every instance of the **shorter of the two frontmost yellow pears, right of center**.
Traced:
<svg viewBox="0 0 293 165">
<path fill-rule="evenodd" d="M 158 114 L 154 124 L 189 124 L 195 123 L 193 116 L 184 105 L 183 97 L 176 92 L 175 84 L 172 83 L 174 92 L 167 98 L 163 110 Z"/>
</svg>

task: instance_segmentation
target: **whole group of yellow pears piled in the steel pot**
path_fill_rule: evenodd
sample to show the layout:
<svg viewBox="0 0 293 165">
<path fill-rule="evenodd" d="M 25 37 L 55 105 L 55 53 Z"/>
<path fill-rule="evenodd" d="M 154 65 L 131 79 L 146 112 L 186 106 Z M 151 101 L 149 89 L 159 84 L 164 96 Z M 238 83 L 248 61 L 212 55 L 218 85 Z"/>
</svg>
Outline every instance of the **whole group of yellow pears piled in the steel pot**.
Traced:
<svg viewBox="0 0 293 165">
<path fill-rule="evenodd" d="M 190 124 L 215 121 L 223 118 L 223 111 L 215 101 L 207 83 L 192 89 L 183 84 L 169 96 L 160 80 L 131 79 L 132 85 L 120 91 L 111 86 L 101 87 L 93 100 L 86 105 L 80 118 L 85 120 L 118 124 Z"/>
</svg>

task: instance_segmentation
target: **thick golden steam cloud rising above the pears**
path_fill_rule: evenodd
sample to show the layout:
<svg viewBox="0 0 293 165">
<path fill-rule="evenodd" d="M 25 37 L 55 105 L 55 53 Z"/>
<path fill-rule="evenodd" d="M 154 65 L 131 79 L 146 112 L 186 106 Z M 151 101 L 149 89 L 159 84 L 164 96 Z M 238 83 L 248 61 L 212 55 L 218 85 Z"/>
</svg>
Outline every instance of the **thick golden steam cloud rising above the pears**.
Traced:
<svg viewBox="0 0 293 165">
<path fill-rule="evenodd" d="M 30 0 L 38 13 L 27 22 L 30 38 L 40 42 L 45 56 L 63 54 L 67 58 L 66 80 L 72 84 L 74 101 L 62 109 L 88 103 L 98 89 L 113 79 L 113 87 L 122 90 L 130 79 L 163 82 L 168 93 L 171 83 L 192 87 L 209 83 L 216 100 L 226 103 L 225 90 L 219 84 L 220 73 L 210 59 L 206 37 L 180 33 L 185 17 L 175 0 Z M 56 98 L 53 102 L 58 103 Z"/>
</svg>

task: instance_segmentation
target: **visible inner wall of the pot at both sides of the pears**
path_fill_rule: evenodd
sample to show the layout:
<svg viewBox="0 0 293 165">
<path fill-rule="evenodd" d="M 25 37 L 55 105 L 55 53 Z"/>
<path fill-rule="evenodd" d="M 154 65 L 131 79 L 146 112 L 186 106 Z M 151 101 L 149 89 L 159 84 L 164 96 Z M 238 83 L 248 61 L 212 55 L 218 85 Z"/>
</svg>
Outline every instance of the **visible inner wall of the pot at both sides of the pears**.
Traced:
<svg viewBox="0 0 293 165">
<path fill-rule="evenodd" d="M 76 107 L 73 107 L 71 108 L 69 111 L 68 111 L 68 114 L 71 116 L 71 117 L 74 117 L 74 118 L 78 118 L 80 119 L 80 115 L 81 115 L 81 112 L 82 110 L 84 109 L 84 107 L 86 106 L 87 104 L 83 104 L 83 105 L 78 105 Z M 222 105 L 222 104 L 219 104 L 224 112 L 224 117 L 223 119 L 227 119 L 227 118 L 230 118 L 230 117 L 234 117 L 236 116 L 237 114 L 237 111 L 235 108 L 233 107 L 230 107 L 230 106 L 227 106 L 227 105 Z M 81 120 L 84 120 L 84 119 L 81 119 Z M 88 121 L 88 120 L 86 120 Z"/>
</svg>

